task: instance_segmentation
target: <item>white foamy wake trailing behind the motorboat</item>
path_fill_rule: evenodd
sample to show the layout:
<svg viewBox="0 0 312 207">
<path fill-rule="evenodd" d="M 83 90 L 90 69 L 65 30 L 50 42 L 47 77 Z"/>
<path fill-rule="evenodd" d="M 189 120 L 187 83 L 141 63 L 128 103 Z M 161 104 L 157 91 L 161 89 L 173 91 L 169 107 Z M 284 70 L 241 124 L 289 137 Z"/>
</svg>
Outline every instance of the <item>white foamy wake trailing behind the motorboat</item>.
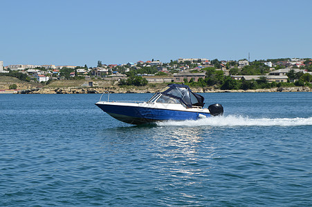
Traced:
<svg viewBox="0 0 312 207">
<path fill-rule="evenodd" d="M 259 118 L 228 115 L 223 117 L 210 117 L 207 119 L 187 121 L 165 121 L 157 123 L 158 126 L 312 126 L 312 117 L 309 118 Z"/>
</svg>

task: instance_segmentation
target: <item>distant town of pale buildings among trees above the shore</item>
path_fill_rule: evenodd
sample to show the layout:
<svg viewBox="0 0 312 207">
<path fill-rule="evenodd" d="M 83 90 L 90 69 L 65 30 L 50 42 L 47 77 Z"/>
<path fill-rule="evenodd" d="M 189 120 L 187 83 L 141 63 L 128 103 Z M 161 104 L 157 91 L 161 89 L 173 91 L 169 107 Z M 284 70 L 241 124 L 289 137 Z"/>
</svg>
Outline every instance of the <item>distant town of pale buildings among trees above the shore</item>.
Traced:
<svg viewBox="0 0 312 207">
<path fill-rule="evenodd" d="M 85 79 L 118 81 L 119 86 L 144 86 L 147 83 L 175 82 L 190 86 L 215 86 L 226 90 L 279 86 L 309 86 L 312 88 L 312 59 L 219 61 L 205 58 L 179 58 L 171 60 L 169 63 L 152 59 L 124 64 L 106 64 L 98 61 L 97 67 L 93 68 L 86 65 L 15 64 L 3 66 L 3 61 L 0 61 L 0 75 L 18 77 L 24 81 L 33 81 L 44 85 L 56 80 Z"/>
</svg>

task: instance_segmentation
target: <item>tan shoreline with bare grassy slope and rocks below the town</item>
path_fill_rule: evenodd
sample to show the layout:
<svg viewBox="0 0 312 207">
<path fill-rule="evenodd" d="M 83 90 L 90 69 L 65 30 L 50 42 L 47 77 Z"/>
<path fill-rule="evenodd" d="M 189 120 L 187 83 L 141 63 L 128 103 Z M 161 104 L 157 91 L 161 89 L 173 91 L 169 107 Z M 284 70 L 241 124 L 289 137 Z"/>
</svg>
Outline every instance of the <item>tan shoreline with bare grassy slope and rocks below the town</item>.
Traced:
<svg viewBox="0 0 312 207">
<path fill-rule="evenodd" d="M 86 94 L 109 91 L 111 93 L 154 93 L 165 88 L 168 83 L 150 83 L 146 86 L 118 86 L 118 81 L 92 81 L 89 87 L 86 80 L 53 81 L 44 86 L 39 83 L 20 81 L 15 77 L 0 77 L 0 94 Z M 17 90 L 9 90 L 12 84 L 17 85 Z M 279 88 L 264 88 L 256 90 L 221 90 L 214 86 L 190 86 L 194 92 L 312 92 L 308 86 L 282 86 Z"/>
</svg>

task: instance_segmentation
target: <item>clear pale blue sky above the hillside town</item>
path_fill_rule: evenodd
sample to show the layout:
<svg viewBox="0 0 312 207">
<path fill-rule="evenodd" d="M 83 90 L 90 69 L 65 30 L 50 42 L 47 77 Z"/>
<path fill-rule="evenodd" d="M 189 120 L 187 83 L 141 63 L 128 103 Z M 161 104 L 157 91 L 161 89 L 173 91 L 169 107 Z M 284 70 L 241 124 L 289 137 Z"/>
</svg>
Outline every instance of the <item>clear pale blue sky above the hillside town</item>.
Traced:
<svg viewBox="0 0 312 207">
<path fill-rule="evenodd" d="M 312 1 L 0 0 L 0 60 L 89 67 L 312 57 Z"/>
</svg>

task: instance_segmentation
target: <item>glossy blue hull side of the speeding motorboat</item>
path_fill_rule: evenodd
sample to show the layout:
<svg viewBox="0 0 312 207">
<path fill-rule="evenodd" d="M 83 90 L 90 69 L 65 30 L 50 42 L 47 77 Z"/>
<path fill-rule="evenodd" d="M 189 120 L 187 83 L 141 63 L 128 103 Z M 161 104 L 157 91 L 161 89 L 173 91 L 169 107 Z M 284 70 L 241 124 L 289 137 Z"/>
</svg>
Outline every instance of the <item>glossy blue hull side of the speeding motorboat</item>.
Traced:
<svg viewBox="0 0 312 207">
<path fill-rule="evenodd" d="M 210 113 L 207 112 L 188 112 L 181 110 L 167 110 L 137 106 L 116 106 L 97 103 L 95 103 L 95 105 L 115 119 L 136 125 L 167 120 L 196 120 L 199 119 L 199 115 L 202 117 L 210 117 Z"/>
</svg>

